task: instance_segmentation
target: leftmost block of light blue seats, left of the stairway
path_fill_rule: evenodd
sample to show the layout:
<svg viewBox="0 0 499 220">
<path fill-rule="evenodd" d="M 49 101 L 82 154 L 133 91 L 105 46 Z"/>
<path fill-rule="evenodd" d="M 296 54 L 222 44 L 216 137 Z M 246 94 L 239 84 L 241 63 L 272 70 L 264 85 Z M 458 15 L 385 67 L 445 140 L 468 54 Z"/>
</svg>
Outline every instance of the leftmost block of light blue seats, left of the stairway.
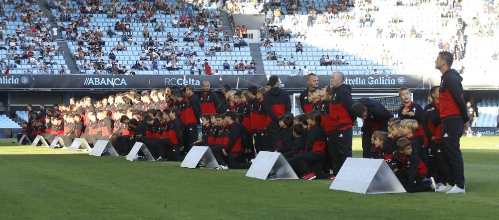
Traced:
<svg viewBox="0 0 499 220">
<path fill-rule="evenodd" d="M 34 1 L 0 3 L 0 69 L 9 74 L 67 73 L 54 30 Z"/>
</svg>

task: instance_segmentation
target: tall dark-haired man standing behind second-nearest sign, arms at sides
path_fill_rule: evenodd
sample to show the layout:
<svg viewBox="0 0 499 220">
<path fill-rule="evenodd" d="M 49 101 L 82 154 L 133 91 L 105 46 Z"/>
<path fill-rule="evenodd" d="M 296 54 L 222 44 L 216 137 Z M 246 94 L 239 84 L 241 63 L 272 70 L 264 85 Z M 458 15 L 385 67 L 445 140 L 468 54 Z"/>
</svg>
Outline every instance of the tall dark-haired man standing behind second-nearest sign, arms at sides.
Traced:
<svg viewBox="0 0 499 220">
<path fill-rule="evenodd" d="M 263 95 L 263 108 L 267 111 L 267 138 L 269 151 L 275 151 L 280 139 L 279 118 L 285 112 L 291 111 L 289 94 L 280 88 L 279 77 L 271 76 L 268 79 L 272 88 Z"/>
</svg>

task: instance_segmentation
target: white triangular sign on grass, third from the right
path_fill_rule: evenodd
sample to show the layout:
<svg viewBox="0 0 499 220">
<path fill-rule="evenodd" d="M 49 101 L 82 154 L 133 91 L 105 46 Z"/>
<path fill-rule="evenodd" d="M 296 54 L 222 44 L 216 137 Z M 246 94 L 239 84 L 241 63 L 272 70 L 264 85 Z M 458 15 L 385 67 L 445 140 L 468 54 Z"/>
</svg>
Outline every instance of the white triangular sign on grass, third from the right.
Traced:
<svg viewBox="0 0 499 220">
<path fill-rule="evenodd" d="M 205 162 L 206 168 L 213 169 L 219 166 L 217 160 L 213 156 L 212 149 L 207 146 L 193 146 L 180 166 L 194 169 L 198 166 L 200 160 Z"/>
</svg>

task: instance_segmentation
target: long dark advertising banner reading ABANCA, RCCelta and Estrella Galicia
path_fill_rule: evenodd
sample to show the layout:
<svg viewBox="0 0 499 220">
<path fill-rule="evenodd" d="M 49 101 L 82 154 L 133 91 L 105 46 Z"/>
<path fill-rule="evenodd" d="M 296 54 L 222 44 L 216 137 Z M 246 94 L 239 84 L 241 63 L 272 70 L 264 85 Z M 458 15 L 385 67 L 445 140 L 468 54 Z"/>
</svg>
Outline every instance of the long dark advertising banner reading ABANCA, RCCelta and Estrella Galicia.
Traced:
<svg viewBox="0 0 499 220">
<path fill-rule="evenodd" d="M 224 84 L 246 89 L 252 85 L 264 87 L 270 75 L 2 75 L 3 90 L 130 90 L 161 89 L 169 86 L 184 87 L 193 84 L 201 89 L 203 81 L 210 82 L 212 89 L 221 89 Z M 329 84 L 330 76 L 321 75 L 319 86 Z M 306 76 L 280 75 L 281 87 L 286 90 L 302 90 L 307 87 Z M 429 89 L 438 85 L 440 79 L 422 75 L 348 75 L 345 84 L 354 90 L 378 89 L 398 90 Z"/>
</svg>

